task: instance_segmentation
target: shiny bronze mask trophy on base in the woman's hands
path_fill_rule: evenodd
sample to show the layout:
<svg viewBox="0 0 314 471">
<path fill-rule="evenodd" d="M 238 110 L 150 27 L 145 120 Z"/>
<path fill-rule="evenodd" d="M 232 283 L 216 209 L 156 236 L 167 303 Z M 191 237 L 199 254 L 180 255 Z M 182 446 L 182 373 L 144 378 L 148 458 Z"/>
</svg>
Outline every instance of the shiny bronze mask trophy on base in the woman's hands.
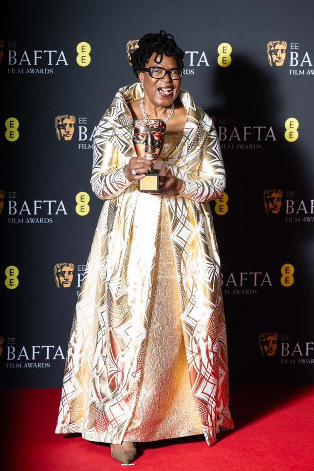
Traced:
<svg viewBox="0 0 314 471">
<path fill-rule="evenodd" d="M 163 150 L 166 123 L 163 120 L 133 121 L 132 140 L 137 157 L 156 160 Z M 159 169 L 153 169 L 138 181 L 140 192 L 159 191 Z"/>
</svg>

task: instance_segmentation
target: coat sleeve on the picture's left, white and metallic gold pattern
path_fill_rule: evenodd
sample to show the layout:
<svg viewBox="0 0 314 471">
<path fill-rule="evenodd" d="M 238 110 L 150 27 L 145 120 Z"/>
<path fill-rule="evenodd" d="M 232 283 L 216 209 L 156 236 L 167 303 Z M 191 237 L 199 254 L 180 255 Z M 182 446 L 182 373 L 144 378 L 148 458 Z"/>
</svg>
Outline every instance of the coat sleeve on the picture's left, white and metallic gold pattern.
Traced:
<svg viewBox="0 0 314 471">
<path fill-rule="evenodd" d="M 99 199 L 113 199 L 129 185 L 123 167 L 119 166 L 119 151 L 101 135 L 95 136 L 92 162 L 92 191 Z"/>
</svg>

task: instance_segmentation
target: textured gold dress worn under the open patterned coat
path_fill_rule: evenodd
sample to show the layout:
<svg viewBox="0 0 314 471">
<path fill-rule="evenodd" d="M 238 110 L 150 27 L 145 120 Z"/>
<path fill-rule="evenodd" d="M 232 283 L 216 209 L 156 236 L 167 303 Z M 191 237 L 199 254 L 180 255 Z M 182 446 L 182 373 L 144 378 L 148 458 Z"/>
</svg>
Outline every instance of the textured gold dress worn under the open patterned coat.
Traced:
<svg viewBox="0 0 314 471">
<path fill-rule="evenodd" d="M 182 136 L 183 133 L 166 134 L 161 159 L 174 150 Z M 140 390 L 125 441 L 146 442 L 203 434 L 188 374 L 164 198 L 161 201 Z"/>
</svg>

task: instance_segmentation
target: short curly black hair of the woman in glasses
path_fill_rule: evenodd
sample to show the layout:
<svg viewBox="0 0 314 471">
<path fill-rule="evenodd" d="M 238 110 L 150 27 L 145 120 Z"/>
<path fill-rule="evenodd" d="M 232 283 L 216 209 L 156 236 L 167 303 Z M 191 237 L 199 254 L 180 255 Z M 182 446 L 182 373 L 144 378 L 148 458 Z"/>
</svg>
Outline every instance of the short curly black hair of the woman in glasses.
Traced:
<svg viewBox="0 0 314 471">
<path fill-rule="evenodd" d="M 132 64 L 133 72 L 136 77 L 142 72 L 148 63 L 151 54 L 156 52 L 155 62 L 160 64 L 163 60 L 163 54 L 166 56 L 174 56 L 180 69 L 184 68 L 183 56 L 184 52 L 177 46 L 173 35 L 160 30 L 159 33 L 148 33 L 141 37 L 138 42 L 138 48 L 131 53 L 129 61 Z M 158 60 L 159 59 L 159 60 Z"/>
</svg>

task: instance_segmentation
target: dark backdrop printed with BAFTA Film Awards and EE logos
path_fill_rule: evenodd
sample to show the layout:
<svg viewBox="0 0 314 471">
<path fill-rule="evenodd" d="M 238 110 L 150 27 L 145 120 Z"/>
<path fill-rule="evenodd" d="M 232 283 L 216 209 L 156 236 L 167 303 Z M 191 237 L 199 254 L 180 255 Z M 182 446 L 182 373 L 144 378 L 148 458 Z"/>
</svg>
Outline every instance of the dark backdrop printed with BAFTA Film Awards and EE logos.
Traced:
<svg viewBox="0 0 314 471">
<path fill-rule="evenodd" d="M 13 5 L 14 6 L 14 5 Z M 13 8 L 11 5 L 11 7 Z M 127 45 L 165 29 L 182 87 L 216 118 L 227 186 L 211 202 L 231 384 L 310 383 L 314 370 L 314 8 L 292 0 L 25 4 L 0 40 L 0 374 L 60 387 L 103 205 L 95 127 L 134 83 Z M 15 16 L 17 18 L 17 15 Z M 6 237 L 5 237 L 6 234 Z M 4 306 L 6 306 L 4 308 Z"/>
</svg>

